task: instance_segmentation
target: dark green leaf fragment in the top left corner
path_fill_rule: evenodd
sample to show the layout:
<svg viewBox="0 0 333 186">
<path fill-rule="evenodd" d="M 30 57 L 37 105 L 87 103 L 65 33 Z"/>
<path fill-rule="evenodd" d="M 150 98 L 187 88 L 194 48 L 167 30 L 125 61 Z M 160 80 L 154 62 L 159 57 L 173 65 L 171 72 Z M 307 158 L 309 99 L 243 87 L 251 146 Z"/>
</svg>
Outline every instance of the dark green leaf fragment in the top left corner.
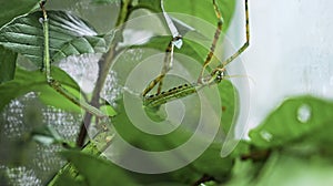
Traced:
<svg viewBox="0 0 333 186">
<path fill-rule="evenodd" d="M 13 18 L 28 13 L 39 0 L 1 0 L 0 7 L 0 28 L 11 21 Z"/>
</svg>

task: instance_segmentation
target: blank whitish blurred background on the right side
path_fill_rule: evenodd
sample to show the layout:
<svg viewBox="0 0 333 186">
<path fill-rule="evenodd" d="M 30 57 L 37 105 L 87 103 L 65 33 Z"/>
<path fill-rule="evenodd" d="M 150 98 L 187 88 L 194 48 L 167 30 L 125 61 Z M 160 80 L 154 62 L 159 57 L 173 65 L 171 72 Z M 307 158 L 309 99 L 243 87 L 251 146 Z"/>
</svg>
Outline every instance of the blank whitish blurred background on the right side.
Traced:
<svg viewBox="0 0 333 186">
<path fill-rule="evenodd" d="M 256 126 L 283 100 L 311 94 L 333 99 L 333 1 L 249 0 L 251 42 L 242 54 L 250 79 L 249 125 Z M 244 1 L 228 37 L 244 42 Z"/>
</svg>

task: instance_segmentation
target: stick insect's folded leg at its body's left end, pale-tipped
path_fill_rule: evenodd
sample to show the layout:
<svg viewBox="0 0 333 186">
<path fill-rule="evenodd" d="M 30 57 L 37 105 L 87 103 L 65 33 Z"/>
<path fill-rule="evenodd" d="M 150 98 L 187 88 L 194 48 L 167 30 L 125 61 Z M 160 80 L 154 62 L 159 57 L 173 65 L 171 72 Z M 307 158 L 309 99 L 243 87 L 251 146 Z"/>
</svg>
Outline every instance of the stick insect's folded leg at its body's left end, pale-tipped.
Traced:
<svg viewBox="0 0 333 186">
<path fill-rule="evenodd" d="M 163 62 L 163 69 L 161 71 L 161 73 L 154 79 L 152 80 L 149 85 L 144 89 L 144 91 L 142 92 L 142 96 L 145 96 L 157 84 L 159 84 L 158 87 L 158 94 L 161 93 L 162 90 L 162 84 L 163 84 L 163 79 L 165 76 L 165 74 L 171 70 L 172 68 L 172 62 L 173 62 L 173 49 L 174 49 L 174 42 L 176 42 L 178 40 L 181 40 L 182 37 L 178 35 L 174 37 L 170 42 L 169 45 L 165 50 L 165 56 L 164 56 L 164 62 Z"/>
</svg>

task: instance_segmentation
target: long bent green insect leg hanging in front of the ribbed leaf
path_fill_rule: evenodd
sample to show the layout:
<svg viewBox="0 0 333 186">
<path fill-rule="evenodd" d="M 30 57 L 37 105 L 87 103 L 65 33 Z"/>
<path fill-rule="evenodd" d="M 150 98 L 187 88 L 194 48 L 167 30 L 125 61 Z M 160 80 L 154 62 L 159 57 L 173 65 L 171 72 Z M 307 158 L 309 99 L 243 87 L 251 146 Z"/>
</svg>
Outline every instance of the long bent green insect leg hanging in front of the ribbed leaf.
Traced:
<svg viewBox="0 0 333 186">
<path fill-rule="evenodd" d="M 107 114 L 98 110 L 97 107 L 88 104 L 83 100 L 78 99 L 77 96 L 72 95 L 69 91 L 67 91 L 59 81 L 54 80 L 51 75 L 51 63 L 50 63 L 50 43 L 49 43 L 49 19 L 47 14 L 47 10 L 44 8 L 47 0 L 40 1 L 40 9 L 42 10 L 42 28 L 43 28 L 43 35 L 44 35 L 44 51 L 43 51 L 43 68 L 47 75 L 47 83 L 56 90 L 58 93 L 63 95 L 65 99 L 70 100 L 72 103 L 77 104 L 84 111 L 91 113 L 97 117 L 108 117 Z"/>
</svg>

